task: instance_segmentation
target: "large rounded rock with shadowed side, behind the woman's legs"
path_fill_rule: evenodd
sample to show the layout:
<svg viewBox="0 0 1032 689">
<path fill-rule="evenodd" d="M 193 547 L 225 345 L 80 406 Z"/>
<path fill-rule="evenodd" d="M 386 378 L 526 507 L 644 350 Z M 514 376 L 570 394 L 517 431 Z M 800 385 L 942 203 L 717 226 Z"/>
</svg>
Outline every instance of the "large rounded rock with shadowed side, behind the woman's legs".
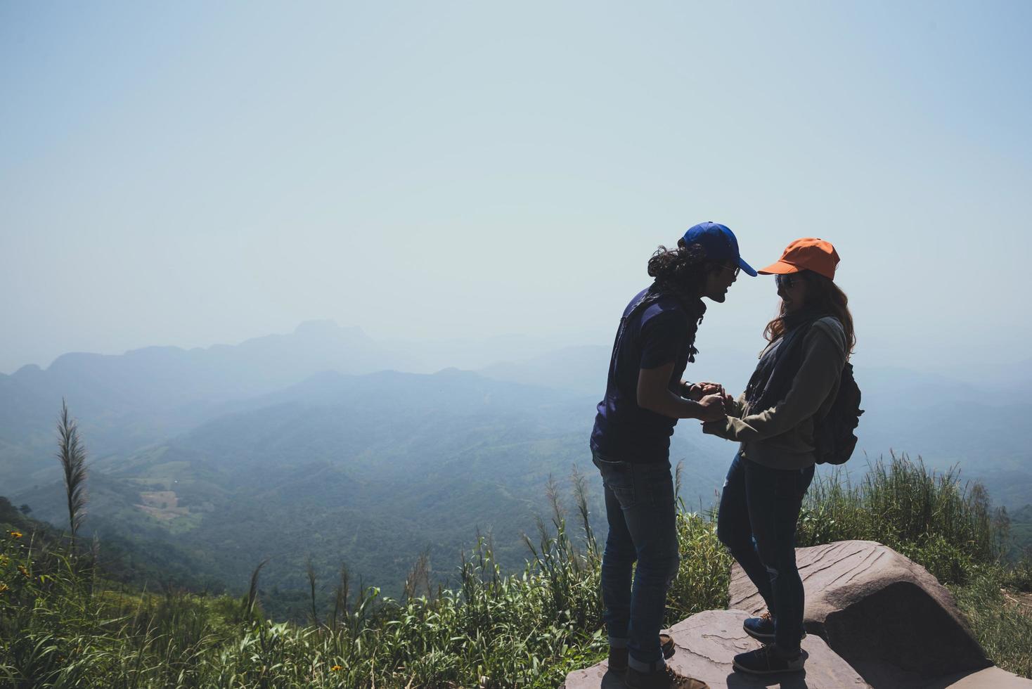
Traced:
<svg viewBox="0 0 1032 689">
<path fill-rule="evenodd" d="M 891 548 L 843 540 L 799 548 L 796 560 L 806 589 L 806 630 L 872 686 L 928 686 L 992 665 L 949 591 Z M 737 564 L 729 593 L 730 608 L 765 609 Z"/>
</svg>

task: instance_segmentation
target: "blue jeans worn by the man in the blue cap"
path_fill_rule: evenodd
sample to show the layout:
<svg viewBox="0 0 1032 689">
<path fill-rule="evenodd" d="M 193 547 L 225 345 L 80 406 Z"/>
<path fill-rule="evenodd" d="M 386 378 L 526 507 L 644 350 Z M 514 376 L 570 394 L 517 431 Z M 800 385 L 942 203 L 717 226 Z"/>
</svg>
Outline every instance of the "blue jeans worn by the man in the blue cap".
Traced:
<svg viewBox="0 0 1032 689">
<path fill-rule="evenodd" d="M 637 464 L 591 453 L 606 492 L 609 536 L 602 556 L 602 599 L 609 644 L 627 649 L 627 664 L 664 666 L 659 629 L 677 575 L 677 507 L 670 462 Z M 635 562 L 638 567 L 632 568 Z"/>
</svg>

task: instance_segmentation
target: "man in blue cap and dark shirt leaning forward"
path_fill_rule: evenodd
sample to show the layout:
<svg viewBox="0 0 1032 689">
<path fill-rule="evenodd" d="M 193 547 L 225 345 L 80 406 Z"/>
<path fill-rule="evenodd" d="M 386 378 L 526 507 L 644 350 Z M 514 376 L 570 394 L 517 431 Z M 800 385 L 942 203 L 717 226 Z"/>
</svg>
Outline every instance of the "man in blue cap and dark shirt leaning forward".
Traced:
<svg viewBox="0 0 1032 689">
<path fill-rule="evenodd" d="M 635 689 L 706 686 L 667 667 L 673 644 L 659 638 L 679 562 L 670 436 L 678 419 L 724 418 L 719 386 L 690 384 L 681 375 L 695 361 L 696 331 L 706 311 L 702 298 L 722 302 L 739 269 L 756 274 L 727 226 L 691 227 L 677 249 L 660 247 L 649 259 L 653 283 L 623 309 L 613 343 L 591 455 L 609 522 L 602 560 L 609 668 L 626 672 Z"/>
</svg>

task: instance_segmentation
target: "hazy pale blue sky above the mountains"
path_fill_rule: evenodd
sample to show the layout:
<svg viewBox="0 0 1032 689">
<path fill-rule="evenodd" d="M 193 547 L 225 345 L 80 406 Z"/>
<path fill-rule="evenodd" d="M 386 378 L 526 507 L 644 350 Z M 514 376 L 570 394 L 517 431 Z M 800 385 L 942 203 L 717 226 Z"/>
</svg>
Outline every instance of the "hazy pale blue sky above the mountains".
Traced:
<svg viewBox="0 0 1032 689">
<path fill-rule="evenodd" d="M 833 241 L 860 361 L 1027 358 L 1030 20 L 0 1 L 0 371 L 308 319 L 609 343 L 704 220 L 755 266 Z M 742 275 L 709 346 L 756 349 L 775 303 Z"/>
</svg>

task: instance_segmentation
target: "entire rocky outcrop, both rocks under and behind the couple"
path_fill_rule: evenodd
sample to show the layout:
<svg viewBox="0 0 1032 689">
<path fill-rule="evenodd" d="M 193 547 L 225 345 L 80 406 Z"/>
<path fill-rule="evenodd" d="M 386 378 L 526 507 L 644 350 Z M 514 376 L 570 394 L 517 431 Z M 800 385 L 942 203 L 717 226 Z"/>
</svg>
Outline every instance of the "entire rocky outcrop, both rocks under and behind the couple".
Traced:
<svg viewBox="0 0 1032 689">
<path fill-rule="evenodd" d="M 737 565 L 731 608 L 692 615 L 670 633 L 678 671 L 712 689 L 1032 689 L 1026 680 L 993 667 L 972 637 L 953 594 L 921 565 L 869 540 L 845 540 L 796 551 L 806 588 L 800 672 L 750 676 L 732 665 L 736 654 L 759 648 L 742 622 L 764 601 Z M 571 672 L 566 689 L 622 689 L 605 662 Z"/>
</svg>

